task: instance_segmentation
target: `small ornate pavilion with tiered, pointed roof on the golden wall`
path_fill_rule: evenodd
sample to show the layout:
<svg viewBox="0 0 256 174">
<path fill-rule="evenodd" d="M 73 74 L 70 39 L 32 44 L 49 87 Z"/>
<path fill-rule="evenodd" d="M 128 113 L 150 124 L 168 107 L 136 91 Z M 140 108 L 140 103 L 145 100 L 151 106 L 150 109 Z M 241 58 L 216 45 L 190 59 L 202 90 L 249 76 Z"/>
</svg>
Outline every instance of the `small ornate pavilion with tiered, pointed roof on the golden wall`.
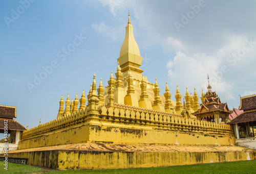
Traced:
<svg viewBox="0 0 256 174">
<path fill-rule="evenodd" d="M 221 103 L 220 97 L 218 97 L 216 91 L 211 91 L 209 83 L 207 89 L 208 91 L 205 94 L 202 91 L 202 104 L 200 109 L 192 114 L 195 115 L 198 120 L 227 123 L 229 114 L 231 114 L 232 111 L 228 109 L 227 103 Z"/>
</svg>

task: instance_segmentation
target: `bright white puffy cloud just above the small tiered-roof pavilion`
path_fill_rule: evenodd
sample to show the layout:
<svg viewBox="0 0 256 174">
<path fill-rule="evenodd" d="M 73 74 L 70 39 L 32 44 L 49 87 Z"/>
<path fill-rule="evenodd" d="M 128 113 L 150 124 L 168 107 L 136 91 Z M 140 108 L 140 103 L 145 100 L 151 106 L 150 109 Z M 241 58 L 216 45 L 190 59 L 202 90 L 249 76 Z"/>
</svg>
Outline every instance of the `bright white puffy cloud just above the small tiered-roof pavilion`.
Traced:
<svg viewBox="0 0 256 174">
<path fill-rule="evenodd" d="M 223 74 L 219 73 L 220 65 L 220 61 L 215 57 L 204 54 L 187 56 L 178 52 L 173 61 L 167 62 L 166 67 L 173 87 L 176 84 L 182 88 L 187 86 L 190 91 L 196 87 L 197 93 L 201 94 L 202 88 L 204 91 L 207 90 L 207 74 L 209 74 L 212 90 L 225 95 L 224 98 L 233 100 L 232 85 L 225 81 Z"/>
</svg>

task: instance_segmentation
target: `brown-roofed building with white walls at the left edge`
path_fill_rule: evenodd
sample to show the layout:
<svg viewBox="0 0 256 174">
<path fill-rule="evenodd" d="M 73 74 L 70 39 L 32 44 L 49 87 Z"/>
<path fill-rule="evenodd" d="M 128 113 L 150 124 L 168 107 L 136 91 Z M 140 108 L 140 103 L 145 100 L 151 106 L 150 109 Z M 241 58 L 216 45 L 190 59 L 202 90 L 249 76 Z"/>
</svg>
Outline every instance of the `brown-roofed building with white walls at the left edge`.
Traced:
<svg viewBox="0 0 256 174">
<path fill-rule="evenodd" d="M 6 143 L 8 143 L 9 151 L 17 150 L 22 132 L 27 130 L 14 120 L 16 117 L 16 106 L 0 105 L 0 133 L 4 134 L 4 139 L 0 140 L 0 153 L 4 152 Z"/>
</svg>

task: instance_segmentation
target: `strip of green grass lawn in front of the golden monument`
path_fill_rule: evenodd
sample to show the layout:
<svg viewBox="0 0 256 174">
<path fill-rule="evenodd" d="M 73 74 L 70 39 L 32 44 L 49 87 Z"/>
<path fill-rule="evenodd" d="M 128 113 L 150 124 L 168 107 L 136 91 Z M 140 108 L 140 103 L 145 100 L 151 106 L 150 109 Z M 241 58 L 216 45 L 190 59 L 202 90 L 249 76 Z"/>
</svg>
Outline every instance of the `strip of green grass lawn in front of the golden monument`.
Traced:
<svg viewBox="0 0 256 174">
<path fill-rule="evenodd" d="M 8 163 L 8 171 L 4 169 L 4 162 L 0 161 L 0 173 L 256 173 L 256 160 L 237 161 L 225 163 L 183 165 L 170 167 L 151 167 L 151 168 L 130 168 L 130 169 L 108 169 L 108 170 L 52 170 L 44 172 L 44 169 Z"/>
</svg>

